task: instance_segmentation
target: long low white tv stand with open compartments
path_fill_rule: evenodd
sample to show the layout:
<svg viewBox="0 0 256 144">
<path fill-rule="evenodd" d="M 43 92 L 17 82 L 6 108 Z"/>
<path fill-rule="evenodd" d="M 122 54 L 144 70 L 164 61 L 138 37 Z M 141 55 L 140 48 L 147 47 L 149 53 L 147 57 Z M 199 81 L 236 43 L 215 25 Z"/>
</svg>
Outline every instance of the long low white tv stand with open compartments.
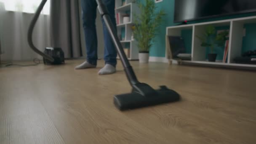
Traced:
<svg viewBox="0 0 256 144">
<path fill-rule="evenodd" d="M 256 68 L 256 64 L 236 64 L 234 58 L 242 55 L 242 44 L 244 36 L 244 24 L 255 24 L 256 26 L 256 16 L 243 17 L 237 19 L 227 19 L 221 21 L 211 21 L 197 24 L 187 24 L 179 25 L 166 28 L 167 36 L 181 36 L 181 31 L 185 29 L 192 30 L 192 45 L 191 45 L 191 55 L 192 60 L 181 60 L 179 62 L 185 64 L 199 64 L 204 66 L 217 66 L 217 67 L 237 67 L 237 68 Z M 206 49 L 201 47 L 201 41 L 196 38 L 196 35 L 202 36 L 204 33 L 204 28 L 207 25 L 213 25 L 215 27 L 228 26 L 229 28 L 229 51 L 227 62 L 209 62 L 205 59 Z M 252 47 L 255 45 L 252 45 Z M 166 46 L 166 51 L 167 50 Z M 168 55 L 166 55 L 168 59 Z M 176 61 L 170 59 L 170 61 Z"/>
</svg>

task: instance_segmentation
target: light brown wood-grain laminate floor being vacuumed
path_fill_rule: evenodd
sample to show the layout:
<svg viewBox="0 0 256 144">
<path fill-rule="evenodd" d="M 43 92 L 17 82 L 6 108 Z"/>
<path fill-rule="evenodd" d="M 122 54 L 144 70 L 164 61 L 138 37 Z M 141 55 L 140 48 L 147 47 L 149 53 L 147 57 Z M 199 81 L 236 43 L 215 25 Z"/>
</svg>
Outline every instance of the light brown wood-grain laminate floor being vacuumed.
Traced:
<svg viewBox="0 0 256 144">
<path fill-rule="evenodd" d="M 113 95 L 131 91 L 123 67 L 99 76 L 61 66 L 0 68 L 0 144 L 255 144 L 256 72 L 131 64 L 141 82 L 182 100 L 126 112 Z"/>
</svg>

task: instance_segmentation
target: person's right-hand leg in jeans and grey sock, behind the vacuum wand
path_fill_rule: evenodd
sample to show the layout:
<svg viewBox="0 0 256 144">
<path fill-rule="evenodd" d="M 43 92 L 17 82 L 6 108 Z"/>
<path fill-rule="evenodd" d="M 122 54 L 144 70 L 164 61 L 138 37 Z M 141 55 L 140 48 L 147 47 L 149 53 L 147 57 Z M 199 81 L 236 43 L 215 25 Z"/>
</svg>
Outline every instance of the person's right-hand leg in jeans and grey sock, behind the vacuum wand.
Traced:
<svg viewBox="0 0 256 144">
<path fill-rule="evenodd" d="M 115 19 L 115 0 L 103 0 L 103 3 L 106 5 L 109 16 L 111 19 L 112 24 L 115 27 L 115 33 L 117 32 L 116 28 L 116 19 Z M 105 67 L 103 67 L 100 71 L 100 75 L 105 74 L 112 74 L 115 72 L 115 67 L 117 64 L 117 51 L 115 45 L 112 41 L 112 38 L 108 32 L 106 24 L 103 19 L 101 19 L 103 24 L 103 32 L 104 32 L 104 60 L 105 60 Z"/>
</svg>

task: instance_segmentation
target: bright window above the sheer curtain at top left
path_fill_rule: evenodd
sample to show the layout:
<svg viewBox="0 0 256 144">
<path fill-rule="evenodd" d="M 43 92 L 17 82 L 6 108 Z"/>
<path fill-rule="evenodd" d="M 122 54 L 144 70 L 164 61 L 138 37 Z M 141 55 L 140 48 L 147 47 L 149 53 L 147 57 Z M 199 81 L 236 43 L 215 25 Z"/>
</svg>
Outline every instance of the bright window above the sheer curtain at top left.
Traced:
<svg viewBox="0 0 256 144">
<path fill-rule="evenodd" d="M 35 13 L 41 0 L 0 0 L 5 5 L 6 11 L 20 11 L 24 13 Z M 50 0 L 45 3 L 43 14 L 50 14 Z"/>
</svg>

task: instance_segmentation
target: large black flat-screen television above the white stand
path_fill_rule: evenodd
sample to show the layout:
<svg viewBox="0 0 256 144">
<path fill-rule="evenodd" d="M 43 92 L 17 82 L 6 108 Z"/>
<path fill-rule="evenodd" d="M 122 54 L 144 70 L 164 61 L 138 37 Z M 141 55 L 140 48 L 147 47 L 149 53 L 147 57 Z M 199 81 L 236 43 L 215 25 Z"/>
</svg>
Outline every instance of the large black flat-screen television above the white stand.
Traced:
<svg viewBox="0 0 256 144">
<path fill-rule="evenodd" d="M 174 21 L 256 12 L 256 0 L 175 0 Z"/>
</svg>

